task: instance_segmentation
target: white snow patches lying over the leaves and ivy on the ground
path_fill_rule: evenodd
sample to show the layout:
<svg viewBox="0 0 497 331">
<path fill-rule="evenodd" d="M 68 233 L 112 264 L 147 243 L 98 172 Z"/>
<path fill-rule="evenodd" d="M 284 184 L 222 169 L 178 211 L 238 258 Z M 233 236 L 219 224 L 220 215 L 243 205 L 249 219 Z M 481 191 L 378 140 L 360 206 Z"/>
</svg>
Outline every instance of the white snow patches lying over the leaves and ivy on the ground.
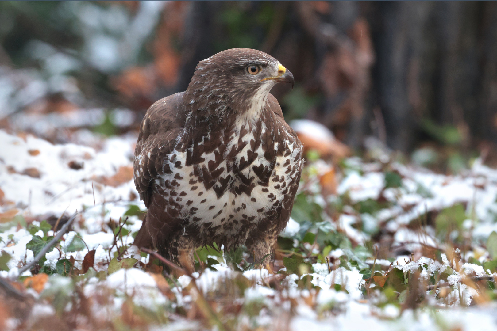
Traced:
<svg viewBox="0 0 497 331">
<path fill-rule="evenodd" d="M 219 264 L 206 268 L 201 274 L 194 272 L 192 276 L 178 277 L 174 283 L 166 282 L 162 275 L 144 270 L 149 257 L 140 255 L 135 247 L 129 248 L 122 258 L 135 258 L 139 262 L 130 268 L 109 271 L 107 275 L 109 262 L 117 255 L 114 233 L 107 224 L 109 218 L 117 222 L 130 205 L 144 209 L 132 180 L 134 142 L 135 137 L 113 137 L 102 141 L 100 148 L 95 149 L 76 144 L 54 145 L 33 136 L 21 137 L 0 131 L 0 225 L 5 224 L 0 227 L 0 250 L 11 256 L 7 263 L 9 270 L 0 271 L 0 276 L 12 275 L 12 270 L 32 261 L 33 252 L 26 249 L 26 245 L 35 236 L 53 235 L 52 231 L 44 233 L 40 228 L 43 217 L 50 215 L 59 217 L 63 213 L 70 215 L 76 210 L 82 211 L 74 231 L 65 234 L 60 246 L 46 254 L 46 266 L 55 270 L 60 259 L 73 257 L 75 267 L 81 268 L 88 251 L 95 250 L 94 270 L 90 269 L 78 283 L 61 275 L 50 276 L 44 291 L 37 297 L 30 321 L 41 315 L 54 314 L 48 298 L 74 291 L 80 284 L 86 297 L 95 297 L 90 307 L 95 318 L 112 320 L 127 307 L 129 298 L 137 307 L 168 316 L 168 324 L 156 321 L 150 325 L 150 330 L 205 330 L 204 324 L 186 320 L 174 312 L 191 309 L 199 298 L 221 298 L 228 292 L 231 294 L 227 297 L 232 298 L 229 305 L 243 308 L 234 324 L 237 330 L 497 330 L 495 301 L 482 300 L 481 292 L 464 283 L 465 277 L 491 272 L 471 263 L 461 263 L 457 268 L 453 258 L 447 258 L 445 254 L 441 256 L 442 262 L 434 260 L 433 256 L 417 256 L 414 261 L 409 256 L 399 256 L 392 261 L 376 260 L 371 256 L 364 258 L 363 265 L 376 264 L 384 268 L 381 276 L 386 274 L 386 269 L 398 269 L 407 274 L 421 268 L 419 279 L 429 280 L 437 272 L 451 269 L 447 281 L 454 291 L 444 298 L 427 294 L 428 304 L 417 310 L 401 310 L 398 305 L 386 301 L 385 294 L 376 291 L 378 284 L 366 284 L 359 272 L 363 267 L 341 265 L 339 259 L 358 254 L 357 251 L 351 253 L 345 246 L 328 251 L 327 256 L 338 261 L 337 265 L 332 265 L 331 272 L 326 263 L 313 263 L 300 275 L 283 276 L 281 285 L 276 288 L 269 283 L 271 277 L 277 275 L 271 275 L 265 269 L 234 271 L 219 256 L 210 256 Z M 382 154 L 383 161 L 384 158 Z M 322 162 L 309 167 L 323 167 Z M 402 176 L 402 185 L 390 188 L 385 188 L 386 175 L 381 170 L 381 162 L 363 164 L 360 159 L 350 158 L 345 163 L 348 166 L 337 188 L 339 196 L 348 196 L 351 204 L 380 197 L 391 203 L 378 211 L 362 214 L 347 205 L 336 224 L 328 227 L 321 224 L 322 229 L 339 228 L 348 238 L 363 244 L 370 240 L 368 233 L 385 227 L 393 233 L 394 243 L 414 242 L 439 247 L 442 243 L 435 238 L 432 227 L 419 233 L 408 225 L 427 211 L 440 211 L 461 202 L 466 207 L 466 214 L 471 216 L 464 224 L 472 229 L 475 243 L 486 241 L 490 233 L 497 230 L 497 171 L 478 159 L 471 170 L 458 176 L 391 163 L 391 170 Z M 315 173 L 319 174 L 319 171 Z M 311 191 L 317 193 L 319 189 Z M 317 196 L 315 201 L 326 203 L 319 193 Z M 22 215 L 31 225 L 27 229 L 18 226 L 11 221 L 16 220 L 16 215 Z M 356 226 L 359 221 L 362 228 Z M 326 222 L 334 221 L 325 217 Z M 282 236 L 298 245 L 302 227 L 308 226 L 305 224 L 292 218 Z M 130 215 L 124 226 L 127 234 L 117 246 L 130 245 L 132 234 L 140 226 L 138 217 Z M 34 234 L 29 232 L 33 227 L 37 231 Z M 84 245 L 71 249 L 78 238 Z M 489 259 L 484 249 L 467 254 L 481 262 Z M 22 276 L 29 275 L 31 272 L 26 271 Z M 192 289 L 192 279 L 200 293 Z M 302 282 L 308 280 L 313 286 L 302 287 Z M 240 282 L 248 285 L 235 295 L 238 292 L 232 288 L 233 284 Z M 376 294 L 366 296 L 369 292 Z M 384 304 L 379 304 L 381 302 Z M 472 306 L 463 308 L 468 305 Z M 166 318 L 163 320 L 165 323 Z M 7 325 L 15 329 L 14 322 Z"/>
</svg>

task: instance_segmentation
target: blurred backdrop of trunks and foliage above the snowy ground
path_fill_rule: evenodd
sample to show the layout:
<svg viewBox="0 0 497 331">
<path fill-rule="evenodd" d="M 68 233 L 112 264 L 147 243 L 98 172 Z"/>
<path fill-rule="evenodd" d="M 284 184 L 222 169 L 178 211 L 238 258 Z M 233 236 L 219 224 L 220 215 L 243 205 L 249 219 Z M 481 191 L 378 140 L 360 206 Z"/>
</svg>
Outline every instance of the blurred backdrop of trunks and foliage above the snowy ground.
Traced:
<svg viewBox="0 0 497 331">
<path fill-rule="evenodd" d="M 367 136 L 456 173 L 496 164 L 493 1 L 1 1 L 0 128 L 53 142 L 138 129 L 198 61 L 234 47 L 292 71 L 287 121 Z"/>
</svg>

